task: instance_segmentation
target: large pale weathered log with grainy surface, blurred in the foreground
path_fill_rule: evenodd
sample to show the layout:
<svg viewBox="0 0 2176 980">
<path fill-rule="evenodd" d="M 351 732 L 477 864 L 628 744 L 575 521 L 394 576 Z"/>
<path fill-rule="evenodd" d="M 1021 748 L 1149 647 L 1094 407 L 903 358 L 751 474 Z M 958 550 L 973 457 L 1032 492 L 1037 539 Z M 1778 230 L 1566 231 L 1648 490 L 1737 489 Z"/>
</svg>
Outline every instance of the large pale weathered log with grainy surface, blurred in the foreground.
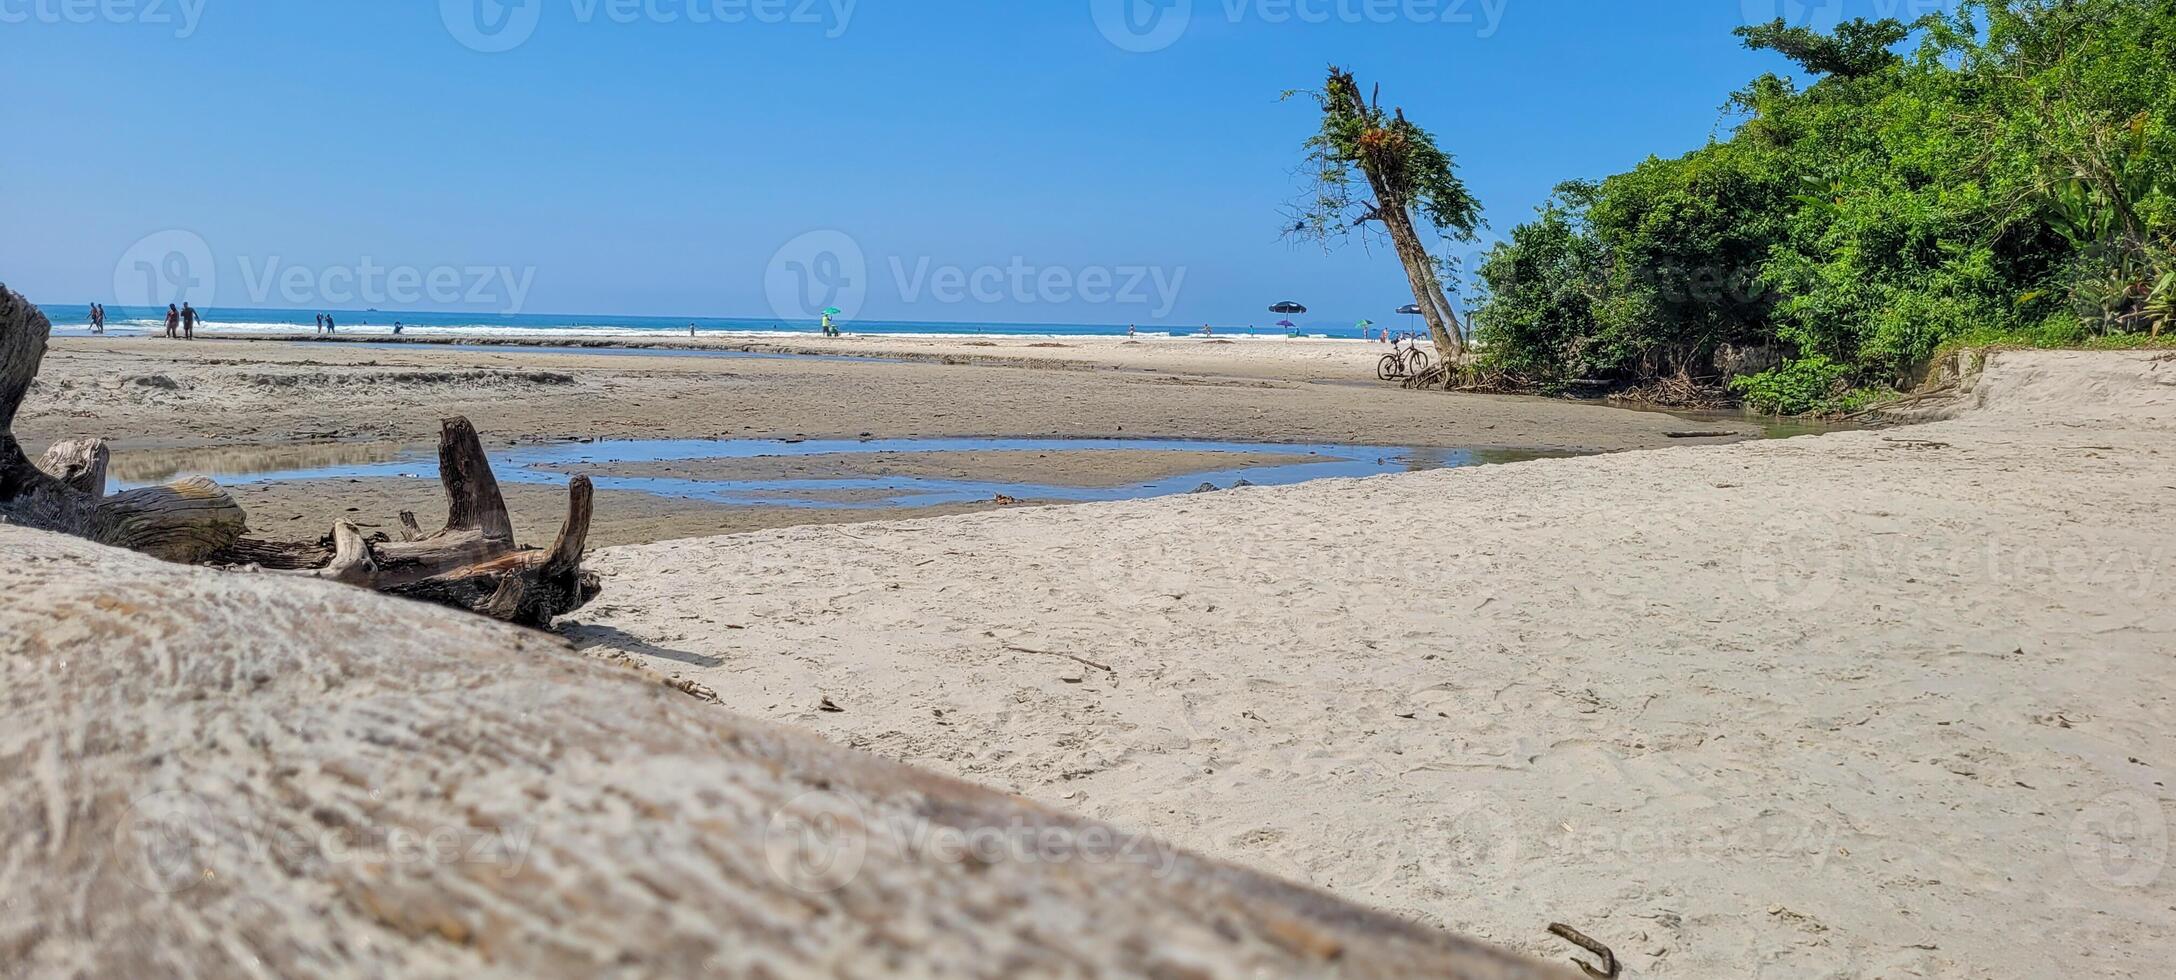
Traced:
<svg viewBox="0 0 2176 980">
<path fill-rule="evenodd" d="M 0 973 L 1573 976 L 542 634 L 0 553 Z"/>
</svg>

